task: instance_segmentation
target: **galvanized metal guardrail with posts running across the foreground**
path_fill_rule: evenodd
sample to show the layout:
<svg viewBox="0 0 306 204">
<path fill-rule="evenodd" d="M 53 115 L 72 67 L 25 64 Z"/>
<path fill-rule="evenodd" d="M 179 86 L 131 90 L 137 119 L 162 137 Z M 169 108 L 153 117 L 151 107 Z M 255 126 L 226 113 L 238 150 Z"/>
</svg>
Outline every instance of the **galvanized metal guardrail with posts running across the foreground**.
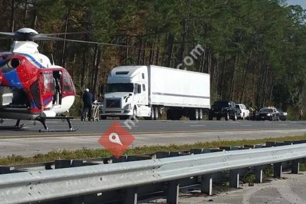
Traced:
<svg viewBox="0 0 306 204">
<path fill-rule="evenodd" d="M 145 188 L 166 191 L 167 203 L 177 203 L 184 182 L 200 183 L 203 193 L 212 194 L 217 172 L 229 171 L 230 186 L 234 188 L 239 186 L 240 172 L 249 167 L 257 182 L 262 181 L 264 165 L 274 164 L 274 176 L 279 177 L 283 162 L 292 161 L 292 172 L 298 173 L 300 159 L 306 158 L 306 141 L 278 145 L 282 146 L 207 154 L 198 149 L 193 150 L 195 155 L 180 157 L 2 174 L 0 203 L 94 203 L 106 199 L 104 194 L 113 200 L 122 194 L 124 203 L 137 203 L 138 193 Z"/>
</svg>

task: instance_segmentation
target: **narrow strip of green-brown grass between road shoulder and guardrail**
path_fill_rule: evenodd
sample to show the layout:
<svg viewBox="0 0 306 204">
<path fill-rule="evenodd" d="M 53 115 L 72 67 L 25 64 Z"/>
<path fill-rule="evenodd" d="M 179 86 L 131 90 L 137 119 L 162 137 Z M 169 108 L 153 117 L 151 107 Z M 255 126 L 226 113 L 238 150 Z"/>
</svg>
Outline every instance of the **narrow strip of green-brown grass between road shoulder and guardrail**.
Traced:
<svg viewBox="0 0 306 204">
<path fill-rule="evenodd" d="M 138 154 L 151 154 L 156 151 L 183 151 L 193 148 L 216 148 L 219 146 L 241 146 L 244 144 L 263 144 L 266 141 L 294 141 L 305 140 L 306 135 L 294 136 L 294 137 L 279 137 L 279 138 L 264 138 L 256 140 L 237 140 L 237 141 L 213 141 L 213 142 L 197 142 L 194 144 L 186 145 L 157 145 L 157 146 L 141 146 L 128 149 L 124 152 L 125 155 L 138 155 Z M 10 164 L 27 164 L 36 162 L 50 162 L 56 159 L 88 159 L 88 158 L 103 158 L 111 156 L 105 149 L 79 149 L 79 150 L 53 150 L 47 154 L 38 154 L 33 157 L 24 157 L 20 155 L 12 155 L 8 157 L 0 157 L 0 165 Z M 301 170 L 306 170 L 306 165 L 301 165 Z"/>
</svg>

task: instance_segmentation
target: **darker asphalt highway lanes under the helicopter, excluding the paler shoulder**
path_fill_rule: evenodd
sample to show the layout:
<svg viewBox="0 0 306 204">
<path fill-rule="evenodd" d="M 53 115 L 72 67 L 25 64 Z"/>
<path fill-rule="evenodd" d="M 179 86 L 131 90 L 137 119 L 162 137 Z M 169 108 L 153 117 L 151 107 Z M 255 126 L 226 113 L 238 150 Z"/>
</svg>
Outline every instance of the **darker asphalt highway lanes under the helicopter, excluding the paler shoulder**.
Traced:
<svg viewBox="0 0 306 204">
<path fill-rule="evenodd" d="M 38 122 L 23 121 L 26 123 L 22 130 L 0 130 L 0 138 L 12 137 L 35 137 L 35 136 L 90 136 L 104 133 L 116 120 L 100 120 L 98 122 L 88 122 L 73 120 L 74 127 L 80 127 L 77 132 L 60 133 L 39 133 L 43 129 Z M 189 120 L 139 120 L 133 124 L 132 121 L 126 123 L 124 120 L 118 122 L 132 134 L 157 134 L 157 133 L 197 133 L 197 132 L 223 132 L 223 131 L 258 131 L 258 130 L 296 130 L 306 129 L 306 121 L 189 121 Z M 21 121 L 22 123 L 22 121 Z M 13 120 L 5 120 L 2 125 L 12 125 Z M 47 122 L 51 130 L 68 130 L 65 121 L 53 120 Z M 0 125 L 0 127 L 2 126 Z"/>
</svg>

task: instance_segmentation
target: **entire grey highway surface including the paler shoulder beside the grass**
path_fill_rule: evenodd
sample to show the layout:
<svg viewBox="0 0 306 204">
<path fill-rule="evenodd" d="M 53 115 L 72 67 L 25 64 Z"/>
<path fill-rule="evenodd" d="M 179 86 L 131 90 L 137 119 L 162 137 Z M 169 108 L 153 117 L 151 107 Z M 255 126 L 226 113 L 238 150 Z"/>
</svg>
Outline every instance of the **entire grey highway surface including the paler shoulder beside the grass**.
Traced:
<svg viewBox="0 0 306 204">
<path fill-rule="evenodd" d="M 9 125 L 7 120 L 3 125 Z M 72 121 L 77 132 L 39 133 L 40 124 L 30 122 L 21 131 L 0 130 L 0 157 L 31 156 L 54 149 L 100 148 L 99 137 L 115 120 Z M 257 139 L 303 135 L 306 122 L 298 121 L 139 121 L 133 126 L 119 123 L 135 137 L 133 146 L 190 144 L 214 140 Z M 63 121 L 49 121 L 50 129 L 67 129 Z M 116 125 L 117 126 L 117 125 Z M 129 129 L 131 128 L 131 130 Z"/>
</svg>

